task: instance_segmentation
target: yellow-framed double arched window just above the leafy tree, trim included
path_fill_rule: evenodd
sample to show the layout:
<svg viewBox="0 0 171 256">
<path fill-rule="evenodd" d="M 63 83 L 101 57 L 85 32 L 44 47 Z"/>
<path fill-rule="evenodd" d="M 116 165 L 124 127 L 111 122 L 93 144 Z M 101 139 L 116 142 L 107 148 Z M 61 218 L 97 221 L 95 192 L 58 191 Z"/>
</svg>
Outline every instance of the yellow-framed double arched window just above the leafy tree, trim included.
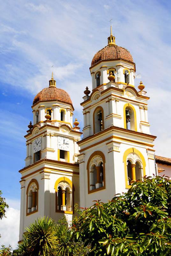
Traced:
<svg viewBox="0 0 171 256">
<path fill-rule="evenodd" d="M 145 158 L 136 148 L 129 148 L 123 154 L 125 168 L 125 185 L 130 188 L 134 180 L 142 180 L 145 176 Z"/>
</svg>

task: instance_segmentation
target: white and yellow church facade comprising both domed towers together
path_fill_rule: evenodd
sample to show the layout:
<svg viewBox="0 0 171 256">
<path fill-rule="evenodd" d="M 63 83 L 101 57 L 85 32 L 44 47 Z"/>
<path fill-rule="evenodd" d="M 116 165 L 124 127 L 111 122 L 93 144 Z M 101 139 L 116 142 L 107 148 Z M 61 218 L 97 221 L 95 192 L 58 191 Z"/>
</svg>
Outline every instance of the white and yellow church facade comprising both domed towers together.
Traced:
<svg viewBox="0 0 171 256">
<path fill-rule="evenodd" d="M 154 140 L 148 122 L 148 100 L 140 82 L 134 85 L 135 63 L 128 50 L 108 37 L 92 60 L 92 92 L 86 88 L 83 134 L 73 123 L 67 92 L 49 87 L 33 100 L 28 125 L 26 166 L 21 169 L 20 235 L 40 216 L 72 220 L 74 204 L 89 207 L 127 191 L 133 180 L 158 175 Z"/>
</svg>

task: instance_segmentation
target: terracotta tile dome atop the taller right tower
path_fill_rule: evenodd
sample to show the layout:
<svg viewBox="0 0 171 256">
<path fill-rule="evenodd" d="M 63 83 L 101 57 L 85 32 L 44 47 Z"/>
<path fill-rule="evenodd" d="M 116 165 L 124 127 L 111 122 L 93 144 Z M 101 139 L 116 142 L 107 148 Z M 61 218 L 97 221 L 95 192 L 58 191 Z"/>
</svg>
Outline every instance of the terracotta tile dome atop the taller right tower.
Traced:
<svg viewBox="0 0 171 256">
<path fill-rule="evenodd" d="M 99 52 L 97 52 L 93 57 L 91 67 L 98 62 L 106 60 L 126 60 L 130 63 L 134 63 L 130 52 L 127 49 L 116 44 L 107 45 Z"/>
</svg>

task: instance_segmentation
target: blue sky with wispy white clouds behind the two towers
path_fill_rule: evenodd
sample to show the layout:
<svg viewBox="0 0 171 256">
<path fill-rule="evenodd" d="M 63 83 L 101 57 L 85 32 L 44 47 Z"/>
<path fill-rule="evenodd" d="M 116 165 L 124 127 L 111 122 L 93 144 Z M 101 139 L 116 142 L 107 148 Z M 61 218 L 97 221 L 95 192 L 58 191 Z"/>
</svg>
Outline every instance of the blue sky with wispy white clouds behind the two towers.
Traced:
<svg viewBox="0 0 171 256">
<path fill-rule="evenodd" d="M 135 79 L 136 86 L 142 80 L 151 98 L 148 115 L 151 133 L 158 136 L 156 154 L 171 157 L 170 11 L 170 1 L 162 0 L 1 1 L 0 190 L 17 221 L 18 170 L 25 164 L 24 135 L 32 120 L 33 98 L 48 86 L 54 65 L 57 87 L 71 95 L 74 116 L 82 127 L 79 104 L 85 87 L 91 89 L 89 67 L 93 55 L 107 45 L 110 18 L 116 44 L 131 52 L 137 74 L 141 75 L 141 79 Z M 7 220 L 1 222 L 0 233 L 4 236 L 12 225 L 9 214 L 11 212 Z M 18 236 L 18 226 L 14 229 Z M 2 237 L 0 244 L 15 246 L 17 240 L 13 237 L 6 240 Z"/>
</svg>

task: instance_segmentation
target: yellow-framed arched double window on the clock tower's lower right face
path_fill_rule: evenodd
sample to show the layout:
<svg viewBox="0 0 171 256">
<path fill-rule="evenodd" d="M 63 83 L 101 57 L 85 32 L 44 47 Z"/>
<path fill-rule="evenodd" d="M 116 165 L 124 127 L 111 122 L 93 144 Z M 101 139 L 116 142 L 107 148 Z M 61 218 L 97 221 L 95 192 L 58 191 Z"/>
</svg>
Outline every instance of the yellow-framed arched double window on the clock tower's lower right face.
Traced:
<svg viewBox="0 0 171 256">
<path fill-rule="evenodd" d="M 73 190 L 71 180 L 66 177 L 59 178 L 55 183 L 55 190 L 57 190 L 56 212 L 73 213 Z"/>
</svg>

